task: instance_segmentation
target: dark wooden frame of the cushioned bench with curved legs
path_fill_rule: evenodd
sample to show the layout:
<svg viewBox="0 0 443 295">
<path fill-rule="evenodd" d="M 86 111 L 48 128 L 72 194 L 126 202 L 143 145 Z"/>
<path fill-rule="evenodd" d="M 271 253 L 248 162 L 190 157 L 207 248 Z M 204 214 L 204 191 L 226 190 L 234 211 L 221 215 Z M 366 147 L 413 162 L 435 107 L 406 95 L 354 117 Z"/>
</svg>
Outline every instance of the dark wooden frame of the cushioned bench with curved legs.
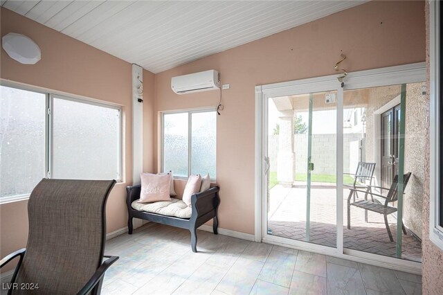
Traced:
<svg viewBox="0 0 443 295">
<path fill-rule="evenodd" d="M 150 222 L 166 224 L 170 226 L 179 227 L 181 229 L 188 229 L 191 233 L 191 248 L 192 252 L 197 252 L 197 229 L 199 226 L 205 224 L 213 219 L 213 231 L 217 235 L 217 227 L 219 222 L 217 220 L 217 211 L 220 204 L 219 187 L 214 186 L 204 192 L 197 193 L 191 197 L 192 215 L 190 218 L 179 218 L 174 216 L 160 215 L 156 213 L 148 213 L 145 211 L 137 211 L 132 208 L 131 204 L 136 199 L 140 199 L 141 185 L 127 186 L 127 227 L 129 235 L 132 234 L 132 218 L 140 218 Z"/>
</svg>

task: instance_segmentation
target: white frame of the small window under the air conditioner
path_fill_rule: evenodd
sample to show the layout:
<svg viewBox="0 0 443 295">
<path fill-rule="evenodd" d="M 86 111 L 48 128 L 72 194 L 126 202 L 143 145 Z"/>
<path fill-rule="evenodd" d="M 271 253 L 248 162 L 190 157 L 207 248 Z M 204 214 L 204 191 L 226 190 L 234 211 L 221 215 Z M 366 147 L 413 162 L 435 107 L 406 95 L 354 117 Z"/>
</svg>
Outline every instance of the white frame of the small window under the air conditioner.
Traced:
<svg viewBox="0 0 443 295">
<path fill-rule="evenodd" d="M 175 110 L 175 111 L 161 111 L 161 136 L 160 136 L 160 171 L 163 173 L 165 172 L 165 115 L 170 114 L 186 114 L 188 113 L 188 176 L 182 177 L 182 176 L 176 176 L 174 175 L 174 179 L 188 179 L 188 177 L 191 175 L 191 168 L 192 168 L 192 114 L 198 114 L 198 113 L 207 113 L 209 111 L 215 112 L 215 130 L 217 132 L 217 108 L 215 107 L 206 107 L 201 109 L 181 109 L 181 110 Z M 217 146 L 217 141 L 216 141 Z M 215 159 L 215 169 L 217 170 L 217 157 Z M 217 175 L 215 175 L 217 177 Z M 215 181 L 216 178 L 210 175 L 210 180 Z"/>
</svg>

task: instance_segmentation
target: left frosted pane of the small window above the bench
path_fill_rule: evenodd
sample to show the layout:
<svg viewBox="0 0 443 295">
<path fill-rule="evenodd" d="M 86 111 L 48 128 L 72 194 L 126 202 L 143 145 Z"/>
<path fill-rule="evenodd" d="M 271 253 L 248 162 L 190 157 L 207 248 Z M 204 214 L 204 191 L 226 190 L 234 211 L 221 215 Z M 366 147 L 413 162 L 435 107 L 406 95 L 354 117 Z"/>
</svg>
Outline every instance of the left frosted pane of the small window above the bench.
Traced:
<svg viewBox="0 0 443 295">
<path fill-rule="evenodd" d="M 188 177 L 188 113 L 163 115 L 163 171 Z"/>
</svg>

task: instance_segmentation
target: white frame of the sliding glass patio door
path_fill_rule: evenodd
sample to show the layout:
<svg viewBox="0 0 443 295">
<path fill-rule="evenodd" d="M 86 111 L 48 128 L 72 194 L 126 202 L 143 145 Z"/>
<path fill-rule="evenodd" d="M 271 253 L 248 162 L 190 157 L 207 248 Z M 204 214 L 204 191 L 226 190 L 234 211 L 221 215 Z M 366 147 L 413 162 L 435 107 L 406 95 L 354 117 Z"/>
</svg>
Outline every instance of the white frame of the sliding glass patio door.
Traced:
<svg viewBox="0 0 443 295">
<path fill-rule="evenodd" d="M 372 265 L 421 273 L 422 264 L 401 260 L 373 253 L 365 253 L 343 248 L 343 91 L 381 87 L 394 84 L 406 84 L 426 81 L 426 64 L 406 64 L 381 69 L 348 73 L 344 88 L 337 78 L 340 75 L 328 75 L 289 82 L 265 84 L 255 87 L 255 242 L 267 242 L 293 247 L 314 253 L 345 258 Z M 337 132 L 336 132 L 336 247 L 326 247 L 304 241 L 289 240 L 269 235 L 267 229 L 267 194 L 266 175 L 268 100 L 278 96 L 293 96 L 320 91 L 337 91 Z"/>
</svg>

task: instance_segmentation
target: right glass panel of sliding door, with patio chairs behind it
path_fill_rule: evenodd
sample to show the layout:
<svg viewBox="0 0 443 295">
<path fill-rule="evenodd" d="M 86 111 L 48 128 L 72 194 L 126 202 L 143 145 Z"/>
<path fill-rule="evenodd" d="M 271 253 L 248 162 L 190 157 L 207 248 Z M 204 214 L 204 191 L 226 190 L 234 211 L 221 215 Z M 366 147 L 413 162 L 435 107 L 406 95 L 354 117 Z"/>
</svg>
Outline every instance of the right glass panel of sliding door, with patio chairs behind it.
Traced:
<svg viewBox="0 0 443 295">
<path fill-rule="evenodd" d="M 344 91 L 343 171 L 353 175 L 345 186 L 356 186 L 355 199 L 344 191 L 345 249 L 422 260 L 425 90 L 420 82 Z M 358 176 L 361 163 L 374 165 L 371 177 Z"/>
</svg>

